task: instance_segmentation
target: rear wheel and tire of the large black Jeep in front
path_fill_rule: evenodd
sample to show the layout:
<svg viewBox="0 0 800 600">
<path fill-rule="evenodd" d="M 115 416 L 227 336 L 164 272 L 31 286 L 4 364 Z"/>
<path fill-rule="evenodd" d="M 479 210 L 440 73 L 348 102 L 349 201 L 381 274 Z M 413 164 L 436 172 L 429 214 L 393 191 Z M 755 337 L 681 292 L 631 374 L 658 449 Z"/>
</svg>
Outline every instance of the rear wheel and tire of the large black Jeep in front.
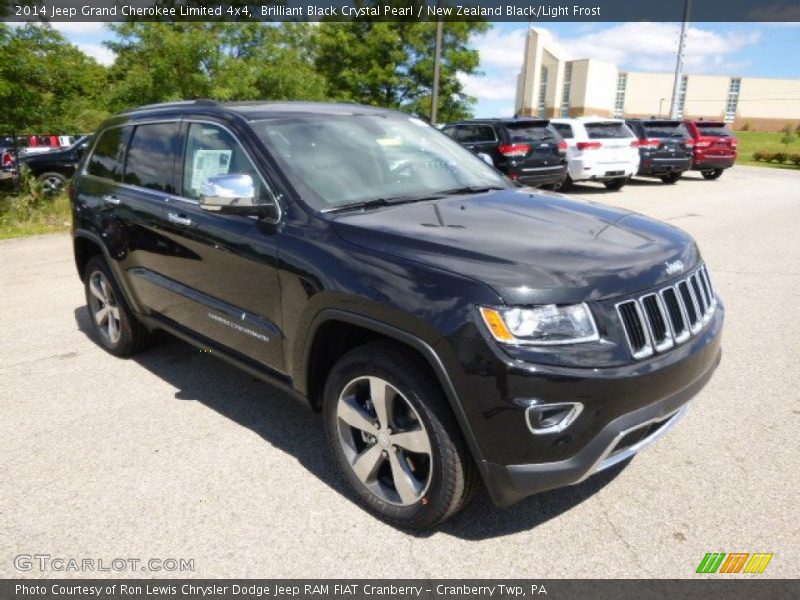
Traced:
<svg viewBox="0 0 800 600">
<path fill-rule="evenodd" d="M 142 350 L 150 334 L 133 316 L 102 256 L 89 259 L 83 281 L 92 329 L 100 344 L 115 356 L 131 356 Z"/>
</svg>

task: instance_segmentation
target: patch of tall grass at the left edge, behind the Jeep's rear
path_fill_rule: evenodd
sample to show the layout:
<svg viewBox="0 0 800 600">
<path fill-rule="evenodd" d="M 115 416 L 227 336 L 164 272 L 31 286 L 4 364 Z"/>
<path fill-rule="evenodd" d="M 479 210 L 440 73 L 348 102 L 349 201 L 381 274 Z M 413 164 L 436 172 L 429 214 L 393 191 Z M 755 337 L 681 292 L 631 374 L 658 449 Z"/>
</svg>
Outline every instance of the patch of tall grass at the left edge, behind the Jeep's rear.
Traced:
<svg viewBox="0 0 800 600">
<path fill-rule="evenodd" d="M 0 240 L 68 231 L 71 220 L 66 194 L 47 199 L 34 210 L 22 208 L 18 196 L 0 194 Z"/>
</svg>

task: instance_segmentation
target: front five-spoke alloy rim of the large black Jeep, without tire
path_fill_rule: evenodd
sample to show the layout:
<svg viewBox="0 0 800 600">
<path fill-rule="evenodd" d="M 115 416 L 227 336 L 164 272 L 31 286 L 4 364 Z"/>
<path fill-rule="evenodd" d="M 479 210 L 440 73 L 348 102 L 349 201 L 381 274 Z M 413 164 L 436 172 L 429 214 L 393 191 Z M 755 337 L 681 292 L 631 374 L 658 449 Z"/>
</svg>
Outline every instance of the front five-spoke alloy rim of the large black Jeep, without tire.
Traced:
<svg viewBox="0 0 800 600">
<path fill-rule="evenodd" d="M 336 407 L 339 444 L 353 474 L 397 506 L 419 502 L 431 482 L 431 440 L 408 399 L 380 377 L 359 377 Z"/>
</svg>

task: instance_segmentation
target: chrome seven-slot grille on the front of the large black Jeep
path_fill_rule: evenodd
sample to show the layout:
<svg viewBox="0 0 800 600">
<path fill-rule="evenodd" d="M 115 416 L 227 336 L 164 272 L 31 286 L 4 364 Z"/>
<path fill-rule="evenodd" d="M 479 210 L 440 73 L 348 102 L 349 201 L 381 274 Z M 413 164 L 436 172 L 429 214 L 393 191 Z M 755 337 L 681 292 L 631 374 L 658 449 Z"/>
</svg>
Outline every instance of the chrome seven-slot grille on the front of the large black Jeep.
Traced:
<svg viewBox="0 0 800 600">
<path fill-rule="evenodd" d="M 708 270 L 617 304 L 631 354 L 641 359 L 685 342 L 711 320 L 717 298 Z"/>
</svg>

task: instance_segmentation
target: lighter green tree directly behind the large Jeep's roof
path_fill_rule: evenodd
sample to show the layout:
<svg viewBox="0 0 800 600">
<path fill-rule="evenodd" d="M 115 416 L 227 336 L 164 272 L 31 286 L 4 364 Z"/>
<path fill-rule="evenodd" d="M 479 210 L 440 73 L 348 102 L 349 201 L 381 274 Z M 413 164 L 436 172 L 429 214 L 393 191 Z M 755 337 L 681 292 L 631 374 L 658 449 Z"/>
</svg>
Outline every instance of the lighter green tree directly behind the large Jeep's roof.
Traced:
<svg viewBox="0 0 800 600">
<path fill-rule="evenodd" d="M 309 23 L 121 23 L 112 69 L 115 109 L 192 98 L 322 99 L 305 48 Z"/>
</svg>

